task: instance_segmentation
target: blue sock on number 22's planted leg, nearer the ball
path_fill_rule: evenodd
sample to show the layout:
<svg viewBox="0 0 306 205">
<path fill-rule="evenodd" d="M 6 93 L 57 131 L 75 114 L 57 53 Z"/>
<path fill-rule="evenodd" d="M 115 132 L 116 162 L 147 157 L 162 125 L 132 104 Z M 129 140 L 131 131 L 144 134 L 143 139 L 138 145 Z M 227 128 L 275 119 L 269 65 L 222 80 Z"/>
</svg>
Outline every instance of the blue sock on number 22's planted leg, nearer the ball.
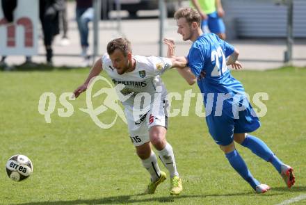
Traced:
<svg viewBox="0 0 306 205">
<path fill-rule="evenodd" d="M 227 160 L 230 162 L 234 170 L 240 174 L 240 176 L 250 183 L 250 186 L 254 190 L 256 190 L 256 186 L 259 185 L 259 181 L 255 179 L 251 172 L 248 170 L 248 167 L 245 165 L 245 162 L 243 161 L 243 158 L 239 155 L 238 151 L 236 149 L 230 153 L 225 154 Z"/>
</svg>

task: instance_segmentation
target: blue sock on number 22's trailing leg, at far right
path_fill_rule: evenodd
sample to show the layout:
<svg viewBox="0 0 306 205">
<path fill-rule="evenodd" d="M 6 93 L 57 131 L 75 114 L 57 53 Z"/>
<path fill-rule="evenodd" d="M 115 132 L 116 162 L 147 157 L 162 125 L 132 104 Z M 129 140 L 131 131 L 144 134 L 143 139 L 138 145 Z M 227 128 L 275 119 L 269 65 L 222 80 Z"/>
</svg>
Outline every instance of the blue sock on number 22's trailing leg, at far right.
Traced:
<svg viewBox="0 0 306 205">
<path fill-rule="evenodd" d="M 277 172 L 282 172 L 282 161 L 280 161 L 271 149 L 266 145 L 266 143 L 255 136 L 246 136 L 245 140 L 241 143 L 243 147 L 248 147 L 254 154 L 270 162 Z"/>
</svg>

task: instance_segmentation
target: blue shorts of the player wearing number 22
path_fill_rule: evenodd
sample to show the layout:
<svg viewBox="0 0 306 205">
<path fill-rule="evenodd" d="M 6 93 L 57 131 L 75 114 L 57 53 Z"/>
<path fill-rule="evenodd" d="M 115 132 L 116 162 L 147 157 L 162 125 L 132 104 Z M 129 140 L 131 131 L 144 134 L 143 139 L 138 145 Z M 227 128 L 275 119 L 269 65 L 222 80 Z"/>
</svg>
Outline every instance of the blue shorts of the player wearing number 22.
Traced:
<svg viewBox="0 0 306 205">
<path fill-rule="evenodd" d="M 239 107 L 241 106 L 243 104 L 239 103 Z M 221 116 L 215 116 L 215 113 L 211 112 L 211 115 L 206 117 L 209 133 L 218 145 L 230 145 L 234 140 L 234 133 L 250 133 L 259 128 L 259 119 L 248 101 L 243 108 L 245 109 L 234 114 L 235 111 L 230 106 L 223 108 Z"/>
</svg>

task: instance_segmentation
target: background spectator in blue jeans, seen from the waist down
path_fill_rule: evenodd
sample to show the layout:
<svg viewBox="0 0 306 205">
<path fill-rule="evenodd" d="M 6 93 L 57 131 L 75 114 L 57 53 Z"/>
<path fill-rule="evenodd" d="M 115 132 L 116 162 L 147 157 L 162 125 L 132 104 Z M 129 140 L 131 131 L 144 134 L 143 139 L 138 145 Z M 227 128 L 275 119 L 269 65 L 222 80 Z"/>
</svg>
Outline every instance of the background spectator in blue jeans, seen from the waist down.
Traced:
<svg viewBox="0 0 306 205">
<path fill-rule="evenodd" d="M 77 0 L 77 24 L 81 40 L 81 56 L 83 57 L 83 66 L 89 66 L 88 56 L 88 23 L 92 21 L 94 10 L 92 8 L 92 0 Z"/>
</svg>

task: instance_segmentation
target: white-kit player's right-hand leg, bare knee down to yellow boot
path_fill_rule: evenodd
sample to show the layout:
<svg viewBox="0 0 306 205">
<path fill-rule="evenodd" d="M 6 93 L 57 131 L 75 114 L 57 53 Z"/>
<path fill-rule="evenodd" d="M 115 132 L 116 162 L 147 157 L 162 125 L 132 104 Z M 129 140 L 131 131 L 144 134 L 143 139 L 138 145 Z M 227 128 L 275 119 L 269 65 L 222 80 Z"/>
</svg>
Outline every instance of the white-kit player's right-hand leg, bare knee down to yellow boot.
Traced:
<svg viewBox="0 0 306 205">
<path fill-rule="evenodd" d="M 166 141 L 167 129 L 163 126 L 152 126 L 150 140 L 152 145 L 159 151 L 159 158 L 170 173 L 170 194 L 179 195 L 182 192 L 182 179 L 179 178 L 175 156 L 171 145 Z"/>
</svg>

